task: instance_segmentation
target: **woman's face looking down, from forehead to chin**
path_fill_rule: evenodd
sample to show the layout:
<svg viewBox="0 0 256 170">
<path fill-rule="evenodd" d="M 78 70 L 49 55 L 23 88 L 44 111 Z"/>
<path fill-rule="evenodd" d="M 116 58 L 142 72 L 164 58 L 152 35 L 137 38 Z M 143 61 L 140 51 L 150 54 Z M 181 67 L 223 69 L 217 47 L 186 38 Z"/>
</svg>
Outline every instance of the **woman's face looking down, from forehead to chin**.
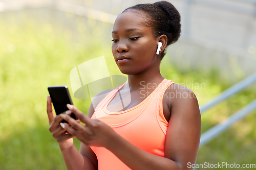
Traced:
<svg viewBox="0 0 256 170">
<path fill-rule="evenodd" d="M 120 71 L 126 75 L 140 74 L 160 64 L 156 55 L 158 41 L 151 27 L 142 25 L 143 17 L 147 17 L 143 12 L 126 11 L 114 23 L 112 53 Z"/>
</svg>

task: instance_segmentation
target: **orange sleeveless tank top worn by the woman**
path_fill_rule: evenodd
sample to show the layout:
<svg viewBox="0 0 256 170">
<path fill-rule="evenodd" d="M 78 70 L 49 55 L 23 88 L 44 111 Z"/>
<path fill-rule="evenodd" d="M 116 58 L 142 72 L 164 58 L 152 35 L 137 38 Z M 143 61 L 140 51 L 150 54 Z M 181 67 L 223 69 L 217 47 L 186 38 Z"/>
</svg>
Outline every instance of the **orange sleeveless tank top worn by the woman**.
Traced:
<svg viewBox="0 0 256 170">
<path fill-rule="evenodd" d="M 118 92 L 118 88 L 114 89 L 98 104 L 91 118 L 99 119 L 109 125 L 116 133 L 138 148 L 164 157 L 168 122 L 163 114 L 163 95 L 173 83 L 171 80 L 163 79 L 140 104 L 120 112 L 107 110 L 109 103 Z M 119 89 L 123 86 L 124 84 Z M 109 150 L 93 146 L 91 149 L 97 156 L 99 170 L 131 169 Z"/>
</svg>

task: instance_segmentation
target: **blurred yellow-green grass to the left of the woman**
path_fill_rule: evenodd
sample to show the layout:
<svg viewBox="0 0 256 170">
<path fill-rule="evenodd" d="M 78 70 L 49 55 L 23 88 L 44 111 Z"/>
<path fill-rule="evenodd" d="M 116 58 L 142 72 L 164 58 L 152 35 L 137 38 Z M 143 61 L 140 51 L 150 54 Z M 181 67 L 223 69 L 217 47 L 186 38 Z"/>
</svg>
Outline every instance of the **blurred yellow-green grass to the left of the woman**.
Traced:
<svg viewBox="0 0 256 170">
<path fill-rule="evenodd" d="M 111 65 L 111 44 L 87 41 L 100 39 L 101 34 L 87 33 L 78 41 L 75 35 L 65 34 L 70 30 L 38 26 L 29 16 L 23 21 L 0 20 L 4 26 L 0 27 L 0 169 L 65 169 L 58 143 L 48 130 L 47 87 L 70 87 L 70 70 L 92 58 L 105 55 Z M 9 44 L 16 46 L 15 52 L 8 52 Z M 110 74 L 118 74 L 116 68 L 110 67 Z M 87 113 L 90 100 L 73 98 L 73 102 Z M 77 139 L 75 145 L 79 149 Z"/>
</svg>

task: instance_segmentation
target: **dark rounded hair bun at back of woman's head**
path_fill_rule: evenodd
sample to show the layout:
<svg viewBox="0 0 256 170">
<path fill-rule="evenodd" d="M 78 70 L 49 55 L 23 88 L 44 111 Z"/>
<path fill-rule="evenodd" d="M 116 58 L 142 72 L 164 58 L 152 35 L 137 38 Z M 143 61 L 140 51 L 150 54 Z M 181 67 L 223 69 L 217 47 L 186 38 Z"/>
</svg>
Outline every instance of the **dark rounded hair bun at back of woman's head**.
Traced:
<svg viewBox="0 0 256 170">
<path fill-rule="evenodd" d="M 176 42 L 181 34 L 181 19 L 179 11 L 173 6 L 173 4 L 166 1 L 159 1 L 153 5 L 160 7 L 168 18 L 168 24 L 170 28 L 169 33 L 172 34 L 172 42 L 169 43 L 172 44 Z"/>
</svg>

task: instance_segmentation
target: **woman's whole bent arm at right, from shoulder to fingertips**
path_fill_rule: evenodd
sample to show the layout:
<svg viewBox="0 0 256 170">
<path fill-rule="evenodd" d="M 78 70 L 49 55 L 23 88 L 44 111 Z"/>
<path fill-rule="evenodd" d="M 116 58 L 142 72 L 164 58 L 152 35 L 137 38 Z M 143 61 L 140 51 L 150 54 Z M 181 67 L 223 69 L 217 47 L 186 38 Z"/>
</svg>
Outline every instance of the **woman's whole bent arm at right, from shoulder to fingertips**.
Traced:
<svg viewBox="0 0 256 170">
<path fill-rule="evenodd" d="M 191 95 L 188 89 L 178 89 Z M 194 93 L 193 93 L 194 94 Z M 185 95 L 184 95 L 185 96 Z M 80 126 L 70 116 L 63 117 L 70 126 L 64 129 L 86 145 L 105 147 L 133 170 L 189 169 L 195 162 L 201 134 L 201 116 L 196 98 L 178 98 L 172 103 L 172 115 L 166 134 L 165 157 L 145 152 L 118 135 L 112 128 L 96 119 L 90 119 L 74 106 L 70 110 L 86 126 Z M 63 115 L 62 115 L 63 116 Z"/>
</svg>

